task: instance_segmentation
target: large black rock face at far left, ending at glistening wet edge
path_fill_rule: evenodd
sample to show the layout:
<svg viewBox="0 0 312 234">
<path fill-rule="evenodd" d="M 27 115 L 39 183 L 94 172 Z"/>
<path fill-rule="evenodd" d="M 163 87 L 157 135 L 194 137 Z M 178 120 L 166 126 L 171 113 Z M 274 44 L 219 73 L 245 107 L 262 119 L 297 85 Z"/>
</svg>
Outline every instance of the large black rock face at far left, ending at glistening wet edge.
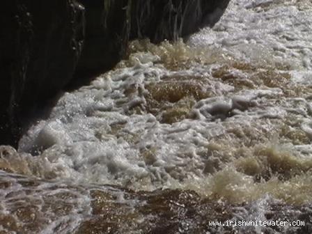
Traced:
<svg viewBox="0 0 312 234">
<path fill-rule="evenodd" d="M 18 116 L 72 77 L 83 44 L 75 0 L 4 1 L 0 13 L 0 143 L 15 145 Z"/>
</svg>

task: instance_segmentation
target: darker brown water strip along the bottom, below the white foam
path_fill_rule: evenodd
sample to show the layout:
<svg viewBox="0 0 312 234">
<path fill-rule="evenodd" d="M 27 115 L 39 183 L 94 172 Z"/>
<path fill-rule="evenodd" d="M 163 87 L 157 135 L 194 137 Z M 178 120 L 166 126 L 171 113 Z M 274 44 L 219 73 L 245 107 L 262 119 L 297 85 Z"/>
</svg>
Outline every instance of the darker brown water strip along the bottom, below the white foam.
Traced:
<svg viewBox="0 0 312 234">
<path fill-rule="evenodd" d="M 311 205 L 265 197 L 233 205 L 195 192 L 133 192 L 1 173 L 1 233 L 310 233 Z M 5 191 L 5 192 L 4 192 Z M 305 226 L 210 226 L 208 221 L 304 221 Z M 224 223 L 226 224 L 226 223 Z"/>
</svg>

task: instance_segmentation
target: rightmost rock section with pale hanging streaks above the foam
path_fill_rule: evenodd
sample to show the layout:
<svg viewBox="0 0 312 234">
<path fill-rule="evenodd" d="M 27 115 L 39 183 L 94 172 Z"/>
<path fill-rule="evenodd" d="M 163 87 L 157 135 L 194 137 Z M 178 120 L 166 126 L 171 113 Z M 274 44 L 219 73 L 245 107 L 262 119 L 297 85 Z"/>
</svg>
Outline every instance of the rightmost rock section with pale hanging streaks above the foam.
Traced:
<svg viewBox="0 0 312 234">
<path fill-rule="evenodd" d="M 132 1 L 131 38 L 150 38 L 157 43 L 187 37 L 204 26 L 213 26 L 229 1 Z"/>
</svg>

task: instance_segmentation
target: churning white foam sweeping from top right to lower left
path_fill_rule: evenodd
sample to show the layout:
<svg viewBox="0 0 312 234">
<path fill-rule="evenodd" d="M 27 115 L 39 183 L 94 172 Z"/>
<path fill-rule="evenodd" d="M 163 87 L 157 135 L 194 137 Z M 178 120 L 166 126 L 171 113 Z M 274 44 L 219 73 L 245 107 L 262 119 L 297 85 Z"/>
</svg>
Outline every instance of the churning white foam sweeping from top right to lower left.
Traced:
<svg viewBox="0 0 312 234">
<path fill-rule="evenodd" d="M 270 145 L 273 138 L 278 139 L 277 145 L 287 145 L 299 155 L 304 152 L 311 160 L 304 138 L 311 139 L 312 134 L 309 91 L 288 97 L 290 88 L 269 85 L 270 73 L 268 85 L 251 79 L 257 72 L 271 69 L 276 75 L 290 74 L 285 84 L 311 84 L 311 7 L 309 1 L 231 1 L 213 29 L 204 29 L 184 45 L 185 51 L 200 51 L 201 58 L 206 58 L 203 63 L 171 69 L 159 54 L 166 54 L 168 60 L 173 50 L 159 45 L 159 54 L 132 54 L 89 86 L 64 93 L 49 118 L 33 125 L 20 141 L 19 152 L 29 171 L 42 178 L 137 190 L 196 187 L 210 195 L 213 181 L 219 177 L 231 178 L 229 185 L 247 186 L 255 192 L 253 177 L 235 171 L 235 162 L 240 156 L 253 158 L 257 144 Z M 187 53 L 179 59 L 187 61 Z M 232 67 L 235 61 L 253 68 Z M 225 64 L 228 73 L 214 75 Z M 176 84 L 170 84 L 173 79 Z M 157 96 L 162 100 L 178 92 L 176 87 L 182 82 L 196 79 L 201 86 L 196 92 L 210 94 L 200 100 L 193 97 L 192 107 L 183 110 L 185 118 L 166 123 L 159 117 L 162 111 L 176 108 L 173 102 L 164 102 L 154 112 L 148 110 L 153 109 L 148 107 L 147 97 L 152 93 L 148 86 L 172 85 L 173 91 Z M 276 78 L 271 79 L 275 82 Z M 235 82 L 245 86 L 240 88 Z M 160 89 L 155 88 L 155 93 Z M 185 92 L 191 91 L 186 88 Z M 281 125 L 288 128 L 285 135 L 276 137 Z M 299 137 L 290 139 L 288 134 Z M 255 160 L 250 161 L 253 166 Z M 228 165 L 232 171 L 226 171 Z M 250 193 L 246 192 L 246 197 L 259 197 Z M 241 201 L 239 196 L 229 196 L 229 200 L 235 199 Z"/>
</svg>

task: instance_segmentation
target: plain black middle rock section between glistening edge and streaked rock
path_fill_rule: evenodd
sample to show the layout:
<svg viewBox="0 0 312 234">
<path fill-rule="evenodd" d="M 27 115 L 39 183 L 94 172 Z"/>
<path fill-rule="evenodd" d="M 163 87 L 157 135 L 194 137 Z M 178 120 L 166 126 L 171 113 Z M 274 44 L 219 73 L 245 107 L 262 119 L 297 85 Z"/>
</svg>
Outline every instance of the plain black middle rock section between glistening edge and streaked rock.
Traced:
<svg viewBox="0 0 312 234">
<path fill-rule="evenodd" d="M 86 40 L 76 77 L 111 69 L 123 58 L 130 32 L 128 0 L 80 0 L 86 8 Z"/>
</svg>

